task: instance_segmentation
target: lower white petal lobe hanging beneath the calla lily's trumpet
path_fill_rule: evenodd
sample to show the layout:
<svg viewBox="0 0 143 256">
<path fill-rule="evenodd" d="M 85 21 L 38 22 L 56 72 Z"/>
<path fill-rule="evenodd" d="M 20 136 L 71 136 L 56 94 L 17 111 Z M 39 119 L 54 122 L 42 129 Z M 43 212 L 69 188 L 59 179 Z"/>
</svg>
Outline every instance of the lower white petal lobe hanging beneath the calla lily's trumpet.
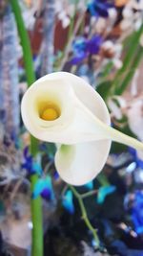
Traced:
<svg viewBox="0 0 143 256">
<path fill-rule="evenodd" d="M 111 140 L 62 145 L 55 154 L 57 172 L 75 186 L 91 181 L 104 167 Z"/>
</svg>

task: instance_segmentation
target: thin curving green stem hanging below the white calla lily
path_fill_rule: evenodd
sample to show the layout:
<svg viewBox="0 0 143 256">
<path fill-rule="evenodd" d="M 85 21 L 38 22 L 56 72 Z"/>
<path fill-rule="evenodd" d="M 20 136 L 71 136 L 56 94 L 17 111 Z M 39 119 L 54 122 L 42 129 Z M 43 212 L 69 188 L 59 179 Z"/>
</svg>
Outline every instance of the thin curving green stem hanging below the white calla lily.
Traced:
<svg viewBox="0 0 143 256">
<path fill-rule="evenodd" d="M 86 210 L 86 207 L 84 205 L 84 202 L 83 202 L 83 198 L 76 191 L 76 189 L 72 185 L 69 185 L 69 187 L 71 188 L 74 197 L 77 198 L 77 200 L 78 200 L 78 203 L 79 203 L 79 206 L 80 206 L 80 210 L 81 210 L 81 214 L 82 214 L 82 219 L 85 221 L 86 225 L 91 230 L 92 236 L 93 236 L 94 241 L 96 243 L 96 247 L 99 247 L 99 238 L 98 238 L 98 235 L 97 235 L 97 231 L 96 231 L 96 229 L 94 229 L 92 227 L 92 223 L 91 223 L 91 221 L 88 218 L 88 214 L 87 214 L 87 210 Z"/>
</svg>

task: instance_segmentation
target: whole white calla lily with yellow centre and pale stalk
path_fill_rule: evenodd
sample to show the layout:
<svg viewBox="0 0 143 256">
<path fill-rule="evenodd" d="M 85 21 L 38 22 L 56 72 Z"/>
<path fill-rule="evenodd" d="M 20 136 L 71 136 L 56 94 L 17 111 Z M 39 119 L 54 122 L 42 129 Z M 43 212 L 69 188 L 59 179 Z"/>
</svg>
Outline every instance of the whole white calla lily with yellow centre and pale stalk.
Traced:
<svg viewBox="0 0 143 256">
<path fill-rule="evenodd" d="M 102 170 L 112 140 L 143 150 L 141 142 L 111 128 L 107 106 L 92 86 L 67 72 L 35 81 L 21 112 L 34 137 L 56 143 L 57 172 L 73 185 L 90 182 Z"/>
</svg>

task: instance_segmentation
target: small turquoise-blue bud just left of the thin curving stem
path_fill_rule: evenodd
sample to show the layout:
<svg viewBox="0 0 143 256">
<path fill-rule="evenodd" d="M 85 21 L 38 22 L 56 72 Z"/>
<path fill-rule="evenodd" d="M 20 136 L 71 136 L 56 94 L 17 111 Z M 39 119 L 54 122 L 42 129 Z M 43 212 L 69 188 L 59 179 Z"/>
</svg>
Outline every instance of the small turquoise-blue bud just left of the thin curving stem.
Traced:
<svg viewBox="0 0 143 256">
<path fill-rule="evenodd" d="M 70 213 L 74 213 L 73 195 L 71 190 L 67 190 L 64 197 L 62 198 L 63 207 Z"/>
</svg>

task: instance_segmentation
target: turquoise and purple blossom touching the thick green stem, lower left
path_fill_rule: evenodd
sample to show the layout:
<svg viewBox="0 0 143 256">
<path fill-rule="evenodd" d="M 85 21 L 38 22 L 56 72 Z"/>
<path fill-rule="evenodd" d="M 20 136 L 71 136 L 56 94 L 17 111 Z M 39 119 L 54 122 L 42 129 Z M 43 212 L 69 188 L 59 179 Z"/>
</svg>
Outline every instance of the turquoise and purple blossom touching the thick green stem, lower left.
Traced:
<svg viewBox="0 0 143 256">
<path fill-rule="evenodd" d="M 51 176 L 48 175 L 46 178 L 39 178 L 36 184 L 34 185 L 31 197 L 35 199 L 39 195 L 41 195 L 41 197 L 43 198 L 54 200 Z"/>
</svg>

